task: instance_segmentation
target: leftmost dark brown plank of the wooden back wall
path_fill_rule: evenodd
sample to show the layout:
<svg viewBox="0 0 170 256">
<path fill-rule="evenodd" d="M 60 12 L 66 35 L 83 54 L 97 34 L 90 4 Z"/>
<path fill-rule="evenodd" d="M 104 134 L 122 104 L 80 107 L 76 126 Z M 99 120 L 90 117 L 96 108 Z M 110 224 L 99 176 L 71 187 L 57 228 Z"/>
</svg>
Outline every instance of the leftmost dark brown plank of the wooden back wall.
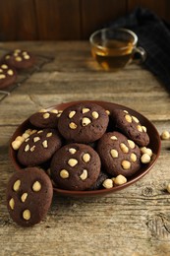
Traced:
<svg viewBox="0 0 170 256">
<path fill-rule="evenodd" d="M 37 39 L 33 0 L 6 0 L 0 6 L 0 40 Z"/>
</svg>

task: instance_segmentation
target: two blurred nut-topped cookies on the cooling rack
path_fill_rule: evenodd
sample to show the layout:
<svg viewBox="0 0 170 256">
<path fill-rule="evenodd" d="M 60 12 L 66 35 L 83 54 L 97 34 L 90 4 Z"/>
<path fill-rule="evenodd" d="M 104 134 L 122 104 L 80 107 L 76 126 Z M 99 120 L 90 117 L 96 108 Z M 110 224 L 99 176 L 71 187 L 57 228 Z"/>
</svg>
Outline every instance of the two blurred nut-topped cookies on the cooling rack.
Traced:
<svg viewBox="0 0 170 256">
<path fill-rule="evenodd" d="M 28 69 L 35 63 L 35 57 L 26 50 L 15 49 L 0 59 L 0 89 L 8 88 L 17 80 L 20 70 Z"/>
</svg>

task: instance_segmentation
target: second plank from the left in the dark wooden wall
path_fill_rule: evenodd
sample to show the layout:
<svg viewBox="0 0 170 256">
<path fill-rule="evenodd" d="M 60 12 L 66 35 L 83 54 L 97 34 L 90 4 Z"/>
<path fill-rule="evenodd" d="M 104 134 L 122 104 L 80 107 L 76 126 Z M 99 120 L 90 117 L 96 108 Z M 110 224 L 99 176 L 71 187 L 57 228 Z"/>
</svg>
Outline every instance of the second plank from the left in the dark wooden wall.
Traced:
<svg viewBox="0 0 170 256">
<path fill-rule="evenodd" d="M 35 0 L 39 39 L 80 39 L 79 0 Z"/>
</svg>

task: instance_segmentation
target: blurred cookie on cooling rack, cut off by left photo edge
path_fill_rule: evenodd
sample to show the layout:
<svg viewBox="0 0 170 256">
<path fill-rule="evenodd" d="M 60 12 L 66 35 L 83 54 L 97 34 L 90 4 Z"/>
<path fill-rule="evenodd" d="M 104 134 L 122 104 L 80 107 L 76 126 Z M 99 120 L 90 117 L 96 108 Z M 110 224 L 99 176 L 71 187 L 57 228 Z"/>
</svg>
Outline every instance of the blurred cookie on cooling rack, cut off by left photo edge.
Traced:
<svg viewBox="0 0 170 256">
<path fill-rule="evenodd" d="M 0 89 L 7 88 L 17 80 L 17 72 L 7 64 L 0 64 Z"/>
</svg>

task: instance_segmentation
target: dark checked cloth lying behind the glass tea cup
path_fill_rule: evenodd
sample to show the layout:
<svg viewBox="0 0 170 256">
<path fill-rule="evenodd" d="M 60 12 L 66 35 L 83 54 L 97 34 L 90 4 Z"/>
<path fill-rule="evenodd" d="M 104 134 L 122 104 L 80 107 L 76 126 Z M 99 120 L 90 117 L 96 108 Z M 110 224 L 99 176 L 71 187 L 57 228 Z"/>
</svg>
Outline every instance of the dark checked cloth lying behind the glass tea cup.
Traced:
<svg viewBox="0 0 170 256">
<path fill-rule="evenodd" d="M 170 91 L 170 25 L 148 9 L 136 8 L 132 13 L 107 24 L 136 32 L 139 45 L 146 51 L 143 65 L 157 76 Z"/>
</svg>

